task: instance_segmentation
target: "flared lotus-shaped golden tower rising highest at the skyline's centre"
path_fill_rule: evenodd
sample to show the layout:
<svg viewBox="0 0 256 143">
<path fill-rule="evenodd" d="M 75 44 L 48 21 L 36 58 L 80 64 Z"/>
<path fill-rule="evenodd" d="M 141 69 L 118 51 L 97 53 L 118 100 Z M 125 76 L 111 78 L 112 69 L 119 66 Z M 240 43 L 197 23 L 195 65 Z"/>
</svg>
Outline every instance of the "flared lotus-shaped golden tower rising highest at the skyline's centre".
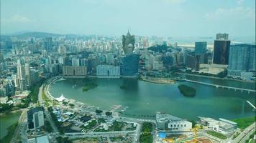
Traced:
<svg viewBox="0 0 256 143">
<path fill-rule="evenodd" d="M 123 35 L 122 44 L 124 54 L 132 54 L 134 50 L 135 36 L 131 35 L 128 31 L 127 35 Z"/>
</svg>

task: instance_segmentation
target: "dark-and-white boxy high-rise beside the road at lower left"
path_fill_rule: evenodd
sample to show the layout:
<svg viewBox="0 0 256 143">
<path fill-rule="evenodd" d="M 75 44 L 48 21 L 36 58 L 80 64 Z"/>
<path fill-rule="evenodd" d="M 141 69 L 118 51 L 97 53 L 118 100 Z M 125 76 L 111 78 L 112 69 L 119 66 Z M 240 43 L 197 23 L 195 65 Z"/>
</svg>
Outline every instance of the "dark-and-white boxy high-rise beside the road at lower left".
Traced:
<svg viewBox="0 0 256 143">
<path fill-rule="evenodd" d="M 28 129 L 37 129 L 45 124 L 42 107 L 35 107 L 27 111 L 27 124 Z"/>
</svg>

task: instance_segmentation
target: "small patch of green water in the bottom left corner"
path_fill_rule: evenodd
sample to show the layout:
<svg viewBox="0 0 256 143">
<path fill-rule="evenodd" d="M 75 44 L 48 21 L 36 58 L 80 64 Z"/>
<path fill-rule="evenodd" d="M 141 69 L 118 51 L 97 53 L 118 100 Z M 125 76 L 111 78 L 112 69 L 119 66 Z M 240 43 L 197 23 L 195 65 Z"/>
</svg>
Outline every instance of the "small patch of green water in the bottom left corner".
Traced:
<svg viewBox="0 0 256 143">
<path fill-rule="evenodd" d="M 16 112 L 14 114 L 0 116 L 0 139 L 6 136 L 8 132 L 7 128 L 19 120 L 20 114 L 20 112 Z"/>
</svg>

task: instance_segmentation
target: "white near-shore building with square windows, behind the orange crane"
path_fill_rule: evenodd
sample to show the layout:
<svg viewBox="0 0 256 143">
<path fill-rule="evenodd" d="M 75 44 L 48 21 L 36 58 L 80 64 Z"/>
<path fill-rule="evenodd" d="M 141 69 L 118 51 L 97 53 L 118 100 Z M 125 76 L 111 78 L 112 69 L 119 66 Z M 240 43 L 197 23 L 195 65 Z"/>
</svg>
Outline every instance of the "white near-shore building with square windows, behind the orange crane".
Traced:
<svg viewBox="0 0 256 143">
<path fill-rule="evenodd" d="M 170 130 L 170 132 L 187 132 L 192 129 L 192 123 L 186 119 L 180 119 L 162 112 L 157 112 L 156 123 L 157 129 Z"/>
</svg>

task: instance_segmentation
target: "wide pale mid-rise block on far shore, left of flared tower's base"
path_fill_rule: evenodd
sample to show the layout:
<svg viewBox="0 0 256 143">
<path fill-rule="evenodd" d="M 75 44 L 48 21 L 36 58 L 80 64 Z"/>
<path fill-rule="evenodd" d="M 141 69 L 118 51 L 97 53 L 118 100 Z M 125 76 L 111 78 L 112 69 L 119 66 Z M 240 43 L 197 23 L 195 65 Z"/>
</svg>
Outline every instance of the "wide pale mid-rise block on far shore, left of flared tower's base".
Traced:
<svg viewBox="0 0 256 143">
<path fill-rule="evenodd" d="M 98 65 L 97 77 L 99 78 L 119 78 L 120 67 L 111 65 Z"/>
</svg>

